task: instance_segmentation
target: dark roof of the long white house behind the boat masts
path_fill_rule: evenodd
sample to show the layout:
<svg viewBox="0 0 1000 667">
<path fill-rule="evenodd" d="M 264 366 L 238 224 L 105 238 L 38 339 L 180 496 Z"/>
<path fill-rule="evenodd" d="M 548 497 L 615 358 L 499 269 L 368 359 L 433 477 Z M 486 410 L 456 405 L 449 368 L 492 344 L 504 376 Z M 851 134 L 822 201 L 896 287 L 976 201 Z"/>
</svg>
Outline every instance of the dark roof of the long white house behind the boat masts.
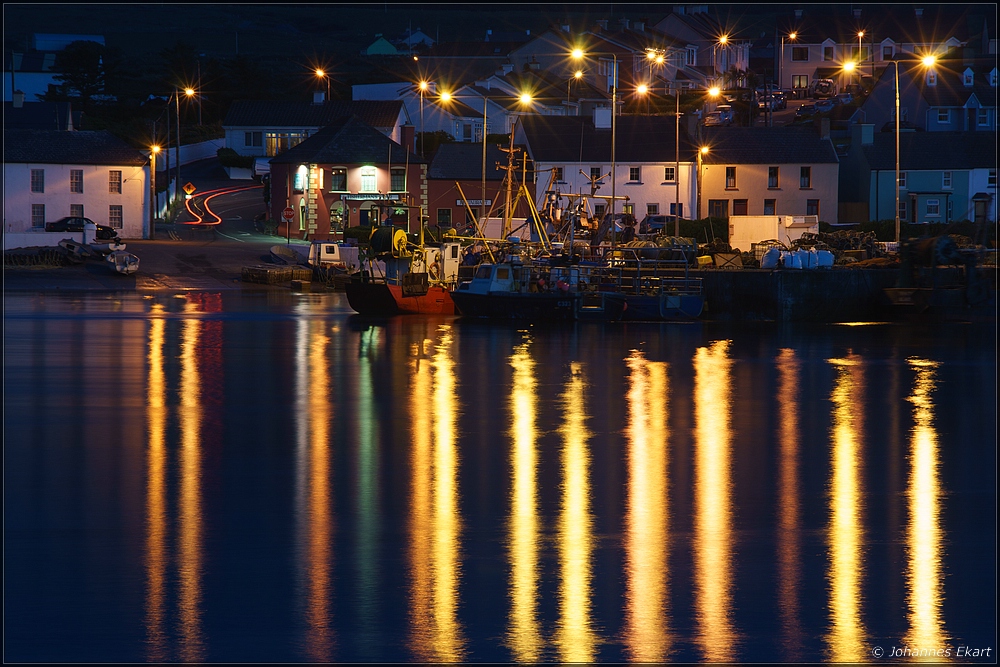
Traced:
<svg viewBox="0 0 1000 667">
<path fill-rule="evenodd" d="M 611 130 L 594 127 L 589 116 L 525 116 L 524 136 L 536 162 L 590 162 L 611 160 Z M 619 116 L 615 128 L 615 162 L 673 161 L 676 119 L 672 116 Z M 681 127 L 680 152 L 694 156 L 694 144 Z"/>
</svg>

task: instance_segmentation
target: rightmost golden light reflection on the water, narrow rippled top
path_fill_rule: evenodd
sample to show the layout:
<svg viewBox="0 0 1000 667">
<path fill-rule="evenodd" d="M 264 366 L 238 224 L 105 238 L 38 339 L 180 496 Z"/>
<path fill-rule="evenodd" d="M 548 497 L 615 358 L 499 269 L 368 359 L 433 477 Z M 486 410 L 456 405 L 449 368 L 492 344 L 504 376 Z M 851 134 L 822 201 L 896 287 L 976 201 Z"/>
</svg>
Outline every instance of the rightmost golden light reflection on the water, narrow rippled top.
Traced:
<svg viewBox="0 0 1000 667">
<path fill-rule="evenodd" d="M 948 641 L 941 617 L 944 534 L 938 479 L 940 452 L 933 401 L 937 364 L 915 358 L 907 361 L 916 378 L 913 393 L 907 398 L 913 404 L 914 425 L 910 434 L 910 474 L 906 490 L 910 515 L 906 536 L 910 627 L 905 641 L 909 648 L 937 649 Z M 940 661 L 937 657 L 928 659 Z"/>
</svg>

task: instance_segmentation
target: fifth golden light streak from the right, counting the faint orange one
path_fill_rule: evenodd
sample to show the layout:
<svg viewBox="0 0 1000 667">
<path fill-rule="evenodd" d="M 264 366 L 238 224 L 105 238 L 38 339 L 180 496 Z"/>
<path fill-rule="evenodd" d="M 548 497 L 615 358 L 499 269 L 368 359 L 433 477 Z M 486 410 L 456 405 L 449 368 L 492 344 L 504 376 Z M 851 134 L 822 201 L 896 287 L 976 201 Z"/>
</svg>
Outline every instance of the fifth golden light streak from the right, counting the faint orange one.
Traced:
<svg viewBox="0 0 1000 667">
<path fill-rule="evenodd" d="M 628 488 L 625 514 L 625 628 L 629 660 L 662 662 L 670 653 L 670 512 L 667 475 L 670 389 L 667 364 L 638 351 L 629 368 Z"/>
</svg>

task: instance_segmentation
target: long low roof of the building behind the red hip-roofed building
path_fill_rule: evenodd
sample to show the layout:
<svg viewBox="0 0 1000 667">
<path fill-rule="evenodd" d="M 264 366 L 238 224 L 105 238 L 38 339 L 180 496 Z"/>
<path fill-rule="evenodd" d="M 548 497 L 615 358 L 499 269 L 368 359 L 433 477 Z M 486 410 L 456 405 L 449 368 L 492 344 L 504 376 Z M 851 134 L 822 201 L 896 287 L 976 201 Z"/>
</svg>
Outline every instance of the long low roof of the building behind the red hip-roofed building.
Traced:
<svg viewBox="0 0 1000 667">
<path fill-rule="evenodd" d="M 285 101 L 233 102 L 223 127 L 323 127 L 336 118 L 357 116 L 372 127 L 395 127 L 400 100 L 330 100 L 322 104 Z"/>
</svg>

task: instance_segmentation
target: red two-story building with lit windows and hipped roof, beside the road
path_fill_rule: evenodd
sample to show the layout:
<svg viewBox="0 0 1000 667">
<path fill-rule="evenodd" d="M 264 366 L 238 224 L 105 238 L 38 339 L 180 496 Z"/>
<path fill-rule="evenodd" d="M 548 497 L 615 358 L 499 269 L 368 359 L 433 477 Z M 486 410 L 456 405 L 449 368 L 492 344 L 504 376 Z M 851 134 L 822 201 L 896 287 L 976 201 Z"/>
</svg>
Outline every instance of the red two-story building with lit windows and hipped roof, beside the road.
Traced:
<svg viewBox="0 0 1000 667">
<path fill-rule="evenodd" d="M 270 160 L 271 219 L 291 208 L 295 238 L 339 238 L 347 227 L 393 224 L 417 231 L 427 210 L 427 164 L 412 152 L 413 128 L 401 145 L 355 116 L 327 123 Z"/>
</svg>

